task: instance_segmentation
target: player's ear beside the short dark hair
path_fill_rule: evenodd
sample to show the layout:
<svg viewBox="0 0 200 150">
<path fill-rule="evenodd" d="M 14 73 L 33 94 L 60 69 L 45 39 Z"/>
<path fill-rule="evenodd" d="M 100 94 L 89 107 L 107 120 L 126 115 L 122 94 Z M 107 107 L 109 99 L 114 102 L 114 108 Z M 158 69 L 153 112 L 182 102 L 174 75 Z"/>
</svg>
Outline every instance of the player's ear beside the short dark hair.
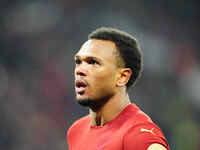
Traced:
<svg viewBox="0 0 200 150">
<path fill-rule="evenodd" d="M 117 86 L 125 86 L 131 77 L 132 71 L 130 68 L 120 68 L 117 80 Z"/>
</svg>

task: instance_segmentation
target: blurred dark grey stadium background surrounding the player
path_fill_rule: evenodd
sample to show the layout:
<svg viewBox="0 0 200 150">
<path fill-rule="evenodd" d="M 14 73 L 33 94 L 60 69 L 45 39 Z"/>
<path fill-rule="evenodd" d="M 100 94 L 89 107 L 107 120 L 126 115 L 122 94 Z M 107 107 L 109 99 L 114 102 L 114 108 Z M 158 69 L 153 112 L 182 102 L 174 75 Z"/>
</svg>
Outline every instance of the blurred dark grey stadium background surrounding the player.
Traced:
<svg viewBox="0 0 200 150">
<path fill-rule="evenodd" d="M 68 150 L 73 55 L 92 30 L 134 35 L 144 72 L 129 92 L 172 150 L 200 150 L 200 1 L 1 0 L 0 149 Z"/>
</svg>

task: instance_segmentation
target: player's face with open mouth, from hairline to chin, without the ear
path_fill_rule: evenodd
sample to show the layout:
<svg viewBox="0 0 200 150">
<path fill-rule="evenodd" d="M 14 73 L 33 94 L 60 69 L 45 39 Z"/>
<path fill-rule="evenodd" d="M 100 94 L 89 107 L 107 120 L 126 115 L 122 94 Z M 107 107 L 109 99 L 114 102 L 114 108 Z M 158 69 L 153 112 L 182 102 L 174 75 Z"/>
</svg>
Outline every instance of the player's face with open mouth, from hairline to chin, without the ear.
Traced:
<svg viewBox="0 0 200 150">
<path fill-rule="evenodd" d="M 74 72 L 79 103 L 109 99 L 116 93 L 116 54 L 116 46 L 112 41 L 92 39 L 82 45 L 75 55 Z"/>
</svg>

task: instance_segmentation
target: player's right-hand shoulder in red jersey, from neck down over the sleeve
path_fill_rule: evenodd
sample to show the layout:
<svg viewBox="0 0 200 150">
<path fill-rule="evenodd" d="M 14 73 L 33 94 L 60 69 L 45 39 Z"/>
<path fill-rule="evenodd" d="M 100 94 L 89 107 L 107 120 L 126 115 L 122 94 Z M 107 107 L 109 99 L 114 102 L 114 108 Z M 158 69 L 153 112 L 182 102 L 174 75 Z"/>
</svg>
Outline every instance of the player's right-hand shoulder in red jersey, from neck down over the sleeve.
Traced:
<svg viewBox="0 0 200 150">
<path fill-rule="evenodd" d="M 124 149 L 147 150 L 150 145 L 157 143 L 169 150 L 161 129 L 135 104 L 131 107 L 131 111 L 129 110 L 127 114 L 128 119 L 124 124 L 127 128 L 123 136 Z"/>
</svg>

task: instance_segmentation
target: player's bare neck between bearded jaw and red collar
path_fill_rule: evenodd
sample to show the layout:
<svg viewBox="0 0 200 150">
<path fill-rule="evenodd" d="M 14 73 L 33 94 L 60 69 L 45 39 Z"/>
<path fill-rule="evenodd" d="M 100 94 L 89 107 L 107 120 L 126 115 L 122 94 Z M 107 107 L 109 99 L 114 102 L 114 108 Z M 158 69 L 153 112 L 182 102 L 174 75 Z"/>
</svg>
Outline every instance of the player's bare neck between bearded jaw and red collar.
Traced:
<svg viewBox="0 0 200 150">
<path fill-rule="evenodd" d="M 113 120 L 128 104 L 130 104 L 128 93 L 125 90 L 118 92 L 98 111 L 90 109 L 92 124 L 96 126 L 105 125 Z"/>
</svg>

